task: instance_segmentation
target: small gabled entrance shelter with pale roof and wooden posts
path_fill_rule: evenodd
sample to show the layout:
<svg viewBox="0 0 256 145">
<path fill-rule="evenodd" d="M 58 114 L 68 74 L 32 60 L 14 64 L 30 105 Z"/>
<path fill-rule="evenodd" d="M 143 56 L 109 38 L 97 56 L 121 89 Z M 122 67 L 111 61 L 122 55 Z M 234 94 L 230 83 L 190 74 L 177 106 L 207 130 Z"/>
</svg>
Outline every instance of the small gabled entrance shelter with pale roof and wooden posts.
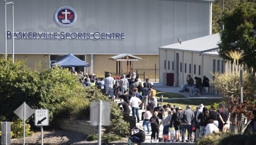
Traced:
<svg viewBox="0 0 256 145">
<path fill-rule="evenodd" d="M 128 54 L 128 53 L 122 53 L 116 56 L 112 56 L 108 59 L 116 61 L 116 73 L 117 72 L 123 73 L 122 64 L 123 64 L 123 61 L 127 61 L 127 73 L 130 73 L 130 74 L 133 72 L 134 61 L 142 60 L 142 58 Z"/>
</svg>

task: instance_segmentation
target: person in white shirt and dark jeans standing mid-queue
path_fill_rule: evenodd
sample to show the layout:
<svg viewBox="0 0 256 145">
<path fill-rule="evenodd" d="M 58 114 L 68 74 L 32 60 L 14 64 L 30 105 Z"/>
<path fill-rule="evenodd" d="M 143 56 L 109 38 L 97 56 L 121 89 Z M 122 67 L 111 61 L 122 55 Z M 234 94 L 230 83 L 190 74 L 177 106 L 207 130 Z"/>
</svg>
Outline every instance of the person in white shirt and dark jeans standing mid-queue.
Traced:
<svg viewBox="0 0 256 145">
<path fill-rule="evenodd" d="M 140 101 L 139 98 L 136 97 L 136 92 L 132 93 L 132 97 L 130 99 L 130 105 L 131 105 L 131 111 L 132 111 L 132 116 L 136 117 L 137 116 L 137 122 L 140 122 L 140 117 L 139 117 L 139 105 L 142 102 Z"/>
</svg>

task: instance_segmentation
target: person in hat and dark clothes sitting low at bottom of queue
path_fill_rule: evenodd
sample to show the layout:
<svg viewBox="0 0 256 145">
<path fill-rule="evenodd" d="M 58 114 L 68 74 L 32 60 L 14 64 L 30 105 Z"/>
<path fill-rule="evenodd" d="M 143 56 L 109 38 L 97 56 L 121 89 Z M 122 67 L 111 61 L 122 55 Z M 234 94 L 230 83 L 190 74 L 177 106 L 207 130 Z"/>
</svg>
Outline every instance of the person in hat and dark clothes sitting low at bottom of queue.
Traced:
<svg viewBox="0 0 256 145">
<path fill-rule="evenodd" d="M 145 137 L 146 136 L 145 136 L 143 127 L 138 126 L 137 128 L 132 129 L 131 136 L 129 137 L 129 139 L 133 143 L 141 143 L 141 142 L 145 142 Z"/>
</svg>

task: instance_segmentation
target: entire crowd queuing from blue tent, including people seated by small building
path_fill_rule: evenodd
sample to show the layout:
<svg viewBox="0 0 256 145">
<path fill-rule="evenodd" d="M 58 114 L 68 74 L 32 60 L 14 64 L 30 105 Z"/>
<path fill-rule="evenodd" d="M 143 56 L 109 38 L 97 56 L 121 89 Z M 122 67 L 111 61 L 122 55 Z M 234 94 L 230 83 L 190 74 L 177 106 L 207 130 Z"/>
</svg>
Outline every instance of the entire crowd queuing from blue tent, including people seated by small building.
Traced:
<svg viewBox="0 0 256 145">
<path fill-rule="evenodd" d="M 200 104 L 195 111 L 187 105 L 183 110 L 181 107 L 171 104 L 163 105 L 157 102 L 154 84 L 146 78 L 143 82 L 139 75 L 134 73 L 130 79 L 125 75 L 121 78 L 113 78 L 108 74 L 106 78 L 97 78 L 96 75 L 76 74 L 84 87 L 97 86 L 102 89 L 111 99 L 120 99 L 119 105 L 125 114 L 132 116 L 140 122 L 139 109 L 143 112 L 143 126 L 134 128 L 131 131 L 129 141 L 140 143 L 145 141 L 145 133 L 151 134 L 151 142 L 194 142 L 201 136 L 227 131 L 230 128 L 229 111 L 223 104 L 219 104 L 216 110 L 213 105 L 208 108 Z M 195 77 L 195 82 L 190 75 L 187 75 L 188 84 L 186 87 L 209 87 L 209 79 L 204 76 L 203 83 L 201 78 Z M 130 109 L 131 107 L 131 109 Z M 163 136 L 159 137 L 159 128 L 163 125 Z M 188 131 L 188 138 L 185 133 Z"/>
</svg>

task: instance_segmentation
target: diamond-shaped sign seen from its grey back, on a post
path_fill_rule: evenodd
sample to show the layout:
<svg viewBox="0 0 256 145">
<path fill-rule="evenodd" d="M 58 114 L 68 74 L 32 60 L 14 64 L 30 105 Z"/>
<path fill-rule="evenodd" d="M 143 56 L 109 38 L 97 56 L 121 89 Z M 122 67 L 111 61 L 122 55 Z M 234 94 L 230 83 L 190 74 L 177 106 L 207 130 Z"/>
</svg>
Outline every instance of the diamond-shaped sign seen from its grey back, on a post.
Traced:
<svg viewBox="0 0 256 145">
<path fill-rule="evenodd" d="M 34 114 L 34 110 L 29 107 L 29 105 L 24 102 L 23 104 L 18 107 L 14 113 L 23 120 L 23 145 L 25 145 L 25 121 L 28 119 L 32 114 Z"/>
</svg>

